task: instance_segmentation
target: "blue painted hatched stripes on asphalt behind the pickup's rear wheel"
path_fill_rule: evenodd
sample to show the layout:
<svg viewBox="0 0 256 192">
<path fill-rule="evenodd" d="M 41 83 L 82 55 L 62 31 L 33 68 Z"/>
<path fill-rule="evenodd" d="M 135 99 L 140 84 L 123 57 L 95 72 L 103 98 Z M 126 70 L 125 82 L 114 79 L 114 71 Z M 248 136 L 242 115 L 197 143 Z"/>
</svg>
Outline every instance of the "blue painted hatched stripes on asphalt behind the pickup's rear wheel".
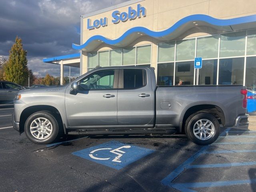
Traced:
<svg viewBox="0 0 256 192">
<path fill-rule="evenodd" d="M 228 134 L 229 132 L 245 132 L 245 131 L 230 131 L 231 128 L 227 128 L 223 133 Z M 248 132 L 248 131 L 247 131 Z M 250 131 L 253 133 L 255 131 Z M 219 138 L 254 138 L 255 136 L 220 136 Z M 232 145 L 232 144 L 256 144 L 256 142 L 215 142 L 211 145 Z M 221 154 L 221 153 L 255 153 L 256 150 L 218 150 L 218 151 L 207 151 L 210 146 L 204 146 L 193 156 L 188 158 L 184 163 L 178 166 L 173 172 L 171 172 L 161 182 L 166 186 L 170 186 L 181 192 L 196 192 L 190 188 L 202 188 L 202 187 L 216 187 L 216 186 L 231 186 L 239 184 L 256 183 L 256 179 L 251 180 L 232 180 L 232 181 L 216 181 L 216 182 L 196 182 L 196 183 L 172 183 L 184 170 L 189 168 L 217 168 L 217 167 L 232 167 L 232 166 L 251 166 L 256 165 L 256 162 L 237 162 L 237 163 L 223 163 L 223 164 L 199 164 L 191 165 L 200 155 L 202 154 Z"/>
</svg>

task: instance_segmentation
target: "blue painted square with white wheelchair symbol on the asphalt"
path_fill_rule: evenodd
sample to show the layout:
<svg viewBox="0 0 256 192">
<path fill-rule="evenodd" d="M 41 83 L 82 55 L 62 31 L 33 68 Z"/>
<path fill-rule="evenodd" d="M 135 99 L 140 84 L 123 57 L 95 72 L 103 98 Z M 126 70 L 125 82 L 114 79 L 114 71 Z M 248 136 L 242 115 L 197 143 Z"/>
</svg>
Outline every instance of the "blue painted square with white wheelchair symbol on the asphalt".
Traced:
<svg viewBox="0 0 256 192">
<path fill-rule="evenodd" d="M 72 154 L 120 170 L 152 152 L 154 150 L 110 141 Z"/>
</svg>

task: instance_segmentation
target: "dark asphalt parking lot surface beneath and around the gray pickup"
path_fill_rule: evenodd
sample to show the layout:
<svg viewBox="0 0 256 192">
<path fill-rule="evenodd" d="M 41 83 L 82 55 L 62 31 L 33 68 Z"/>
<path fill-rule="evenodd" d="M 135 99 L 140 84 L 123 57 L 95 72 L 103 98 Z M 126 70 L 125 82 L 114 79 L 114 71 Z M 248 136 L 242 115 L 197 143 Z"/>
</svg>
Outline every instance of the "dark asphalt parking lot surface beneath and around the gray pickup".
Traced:
<svg viewBox="0 0 256 192">
<path fill-rule="evenodd" d="M 256 131 L 222 128 L 210 146 L 176 134 L 38 145 L 12 128 L 8 107 L 0 108 L 0 191 L 256 191 Z"/>
</svg>

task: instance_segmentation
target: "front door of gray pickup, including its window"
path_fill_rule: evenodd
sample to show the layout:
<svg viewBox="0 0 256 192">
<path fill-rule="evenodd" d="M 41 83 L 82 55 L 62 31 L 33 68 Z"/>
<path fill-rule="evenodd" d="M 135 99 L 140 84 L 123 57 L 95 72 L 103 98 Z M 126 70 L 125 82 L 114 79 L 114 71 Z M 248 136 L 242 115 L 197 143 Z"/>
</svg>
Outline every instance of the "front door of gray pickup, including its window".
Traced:
<svg viewBox="0 0 256 192">
<path fill-rule="evenodd" d="M 66 90 L 68 123 L 74 126 L 117 125 L 118 69 L 98 70 L 78 81 L 77 94 Z"/>
</svg>

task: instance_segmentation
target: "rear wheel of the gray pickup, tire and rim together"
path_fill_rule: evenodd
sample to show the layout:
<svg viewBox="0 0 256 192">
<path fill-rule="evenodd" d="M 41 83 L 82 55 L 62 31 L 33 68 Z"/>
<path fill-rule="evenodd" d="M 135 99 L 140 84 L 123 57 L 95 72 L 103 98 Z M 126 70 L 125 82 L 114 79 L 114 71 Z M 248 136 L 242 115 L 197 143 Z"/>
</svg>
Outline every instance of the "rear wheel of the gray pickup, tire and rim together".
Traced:
<svg viewBox="0 0 256 192">
<path fill-rule="evenodd" d="M 212 144 L 220 134 L 220 124 L 211 114 L 197 112 L 188 117 L 185 123 L 185 133 L 198 145 Z"/>
</svg>

